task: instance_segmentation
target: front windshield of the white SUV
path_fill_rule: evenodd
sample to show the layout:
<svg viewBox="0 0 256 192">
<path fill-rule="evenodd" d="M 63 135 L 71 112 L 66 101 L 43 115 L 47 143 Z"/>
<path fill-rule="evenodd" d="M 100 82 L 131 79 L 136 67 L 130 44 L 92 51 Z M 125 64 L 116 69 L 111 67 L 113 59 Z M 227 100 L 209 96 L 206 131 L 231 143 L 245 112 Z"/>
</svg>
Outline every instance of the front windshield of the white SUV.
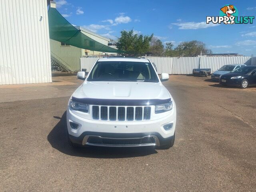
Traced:
<svg viewBox="0 0 256 192">
<path fill-rule="evenodd" d="M 150 63 L 104 61 L 95 64 L 87 80 L 158 82 L 158 77 Z"/>
</svg>

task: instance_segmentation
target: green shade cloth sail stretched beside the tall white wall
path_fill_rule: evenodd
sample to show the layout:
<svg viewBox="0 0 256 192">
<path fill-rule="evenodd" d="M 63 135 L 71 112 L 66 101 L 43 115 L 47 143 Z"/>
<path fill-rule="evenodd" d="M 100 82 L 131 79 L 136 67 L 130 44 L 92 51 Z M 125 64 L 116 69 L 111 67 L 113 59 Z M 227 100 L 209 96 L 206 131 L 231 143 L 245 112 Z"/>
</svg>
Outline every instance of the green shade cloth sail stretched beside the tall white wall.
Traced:
<svg viewBox="0 0 256 192">
<path fill-rule="evenodd" d="M 64 42 L 66 44 L 76 46 L 82 49 L 100 52 L 123 53 L 122 50 L 117 50 L 101 44 L 92 38 L 83 34 L 80 30 L 70 24 L 56 8 L 48 10 L 50 39 Z"/>
</svg>

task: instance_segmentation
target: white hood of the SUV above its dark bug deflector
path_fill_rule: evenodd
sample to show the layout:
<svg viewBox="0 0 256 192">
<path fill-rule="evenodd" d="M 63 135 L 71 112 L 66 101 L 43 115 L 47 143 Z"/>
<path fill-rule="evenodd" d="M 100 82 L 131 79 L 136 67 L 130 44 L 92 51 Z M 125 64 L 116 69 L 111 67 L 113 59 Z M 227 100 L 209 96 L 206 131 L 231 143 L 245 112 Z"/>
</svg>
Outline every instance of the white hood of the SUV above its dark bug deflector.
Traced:
<svg viewBox="0 0 256 192">
<path fill-rule="evenodd" d="M 74 92 L 73 97 L 95 99 L 168 99 L 170 94 L 161 83 L 85 81 Z"/>
</svg>

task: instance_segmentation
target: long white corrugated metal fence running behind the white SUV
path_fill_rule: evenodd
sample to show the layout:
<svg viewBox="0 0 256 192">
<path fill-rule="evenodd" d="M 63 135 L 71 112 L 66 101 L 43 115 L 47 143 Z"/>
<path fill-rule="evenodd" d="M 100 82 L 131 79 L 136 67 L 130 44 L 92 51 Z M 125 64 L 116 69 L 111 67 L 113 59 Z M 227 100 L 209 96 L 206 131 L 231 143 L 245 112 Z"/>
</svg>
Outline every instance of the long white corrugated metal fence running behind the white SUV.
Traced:
<svg viewBox="0 0 256 192">
<path fill-rule="evenodd" d="M 192 74 L 194 68 L 211 68 L 212 72 L 226 64 L 251 65 L 251 57 L 147 57 L 156 64 L 158 74 Z M 81 70 L 89 71 L 99 57 L 80 58 Z"/>
</svg>

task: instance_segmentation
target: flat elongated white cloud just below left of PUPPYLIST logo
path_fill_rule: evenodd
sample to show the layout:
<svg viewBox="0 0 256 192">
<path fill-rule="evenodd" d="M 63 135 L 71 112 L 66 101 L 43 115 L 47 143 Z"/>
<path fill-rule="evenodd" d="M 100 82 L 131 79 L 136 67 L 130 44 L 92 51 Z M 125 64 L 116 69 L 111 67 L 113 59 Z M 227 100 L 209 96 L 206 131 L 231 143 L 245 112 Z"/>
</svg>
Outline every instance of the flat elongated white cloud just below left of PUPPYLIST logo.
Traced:
<svg viewBox="0 0 256 192">
<path fill-rule="evenodd" d="M 215 27 L 220 25 L 220 24 L 213 24 L 213 23 L 206 24 L 206 22 L 179 22 L 179 23 L 172 23 L 172 24 L 179 26 L 179 29 L 202 29 L 202 28 Z"/>
</svg>

